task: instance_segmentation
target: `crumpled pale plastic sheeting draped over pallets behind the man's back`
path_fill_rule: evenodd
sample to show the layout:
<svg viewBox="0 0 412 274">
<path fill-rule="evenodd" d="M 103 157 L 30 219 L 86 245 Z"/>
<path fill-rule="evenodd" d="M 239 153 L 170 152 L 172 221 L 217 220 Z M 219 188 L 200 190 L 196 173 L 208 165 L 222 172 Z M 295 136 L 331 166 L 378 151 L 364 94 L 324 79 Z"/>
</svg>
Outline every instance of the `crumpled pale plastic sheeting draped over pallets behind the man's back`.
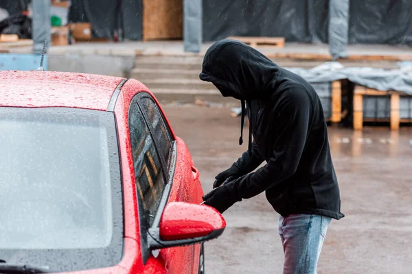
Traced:
<svg viewBox="0 0 412 274">
<path fill-rule="evenodd" d="M 347 68 L 339 62 L 326 62 L 312 69 L 286 68 L 308 82 L 332 82 L 349 79 L 355 84 L 377 90 L 397 90 L 412 95 L 412 66 L 400 69 L 372 69 L 367 67 Z"/>
</svg>

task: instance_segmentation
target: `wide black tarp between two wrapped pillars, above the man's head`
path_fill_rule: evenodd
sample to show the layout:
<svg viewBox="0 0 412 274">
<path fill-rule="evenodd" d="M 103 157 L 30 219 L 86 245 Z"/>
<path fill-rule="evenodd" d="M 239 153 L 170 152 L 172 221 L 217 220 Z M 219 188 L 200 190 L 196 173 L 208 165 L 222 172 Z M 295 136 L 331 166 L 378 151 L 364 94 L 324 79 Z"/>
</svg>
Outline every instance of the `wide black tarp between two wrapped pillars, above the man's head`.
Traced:
<svg viewBox="0 0 412 274">
<path fill-rule="evenodd" d="M 203 0 L 203 40 L 282 36 L 328 42 L 328 0 Z"/>
</svg>

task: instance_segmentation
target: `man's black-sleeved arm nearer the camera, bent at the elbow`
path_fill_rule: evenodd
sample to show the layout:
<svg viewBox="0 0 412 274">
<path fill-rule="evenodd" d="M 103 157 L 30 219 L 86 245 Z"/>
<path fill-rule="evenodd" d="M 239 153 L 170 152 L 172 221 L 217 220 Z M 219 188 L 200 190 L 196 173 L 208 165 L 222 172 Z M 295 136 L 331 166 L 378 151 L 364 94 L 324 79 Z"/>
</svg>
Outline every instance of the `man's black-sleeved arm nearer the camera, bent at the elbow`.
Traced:
<svg viewBox="0 0 412 274">
<path fill-rule="evenodd" d="M 306 90 L 291 92 L 279 102 L 273 157 L 255 173 L 237 179 L 239 199 L 254 197 L 295 174 L 308 134 L 311 103 Z"/>
</svg>

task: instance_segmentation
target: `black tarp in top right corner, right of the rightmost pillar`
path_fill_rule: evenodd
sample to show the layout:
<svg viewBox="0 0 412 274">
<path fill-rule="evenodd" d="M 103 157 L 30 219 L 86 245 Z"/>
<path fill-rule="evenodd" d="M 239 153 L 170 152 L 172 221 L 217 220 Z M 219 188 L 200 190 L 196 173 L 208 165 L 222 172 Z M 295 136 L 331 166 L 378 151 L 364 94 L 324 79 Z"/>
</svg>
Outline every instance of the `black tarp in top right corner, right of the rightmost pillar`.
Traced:
<svg viewBox="0 0 412 274">
<path fill-rule="evenodd" d="M 412 1 L 351 0 L 349 42 L 412 45 Z"/>
</svg>

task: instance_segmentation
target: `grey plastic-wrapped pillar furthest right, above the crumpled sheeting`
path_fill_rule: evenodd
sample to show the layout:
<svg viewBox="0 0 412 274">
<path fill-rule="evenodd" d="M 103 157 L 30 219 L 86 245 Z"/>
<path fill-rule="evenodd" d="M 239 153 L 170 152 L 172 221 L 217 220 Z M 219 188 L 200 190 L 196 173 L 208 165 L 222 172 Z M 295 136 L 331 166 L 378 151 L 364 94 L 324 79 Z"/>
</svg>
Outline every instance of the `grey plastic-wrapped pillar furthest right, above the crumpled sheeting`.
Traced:
<svg viewBox="0 0 412 274">
<path fill-rule="evenodd" d="M 346 58 L 349 28 L 349 0 L 329 2 L 329 47 L 333 60 Z"/>
</svg>

